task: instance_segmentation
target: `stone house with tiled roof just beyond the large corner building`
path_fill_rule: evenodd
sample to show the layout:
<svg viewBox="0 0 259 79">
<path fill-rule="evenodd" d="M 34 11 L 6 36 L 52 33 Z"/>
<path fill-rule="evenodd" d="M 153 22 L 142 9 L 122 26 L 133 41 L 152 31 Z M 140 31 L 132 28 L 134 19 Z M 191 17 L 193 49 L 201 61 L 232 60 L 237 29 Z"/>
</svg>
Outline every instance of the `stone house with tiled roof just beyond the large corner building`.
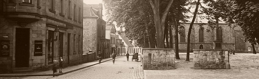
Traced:
<svg viewBox="0 0 259 79">
<path fill-rule="evenodd" d="M 83 4 L 83 52 L 93 51 L 95 56 L 108 50 L 105 40 L 105 24 L 102 19 L 102 4 Z"/>
</svg>

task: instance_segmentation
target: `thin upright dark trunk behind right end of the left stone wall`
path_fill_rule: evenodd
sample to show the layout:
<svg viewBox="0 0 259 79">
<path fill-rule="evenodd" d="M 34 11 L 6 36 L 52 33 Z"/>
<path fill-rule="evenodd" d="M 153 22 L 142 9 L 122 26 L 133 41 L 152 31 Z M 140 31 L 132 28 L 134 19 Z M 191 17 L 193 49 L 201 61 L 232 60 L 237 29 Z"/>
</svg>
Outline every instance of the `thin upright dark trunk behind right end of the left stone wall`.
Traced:
<svg viewBox="0 0 259 79">
<path fill-rule="evenodd" d="M 176 60 L 180 60 L 179 47 L 178 47 L 178 42 L 179 42 L 178 41 L 178 24 L 179 24 L 179 20 L 177 20 L 176 24 L 175 24 L 175 54 L 176 54 Z"/>
</svg>

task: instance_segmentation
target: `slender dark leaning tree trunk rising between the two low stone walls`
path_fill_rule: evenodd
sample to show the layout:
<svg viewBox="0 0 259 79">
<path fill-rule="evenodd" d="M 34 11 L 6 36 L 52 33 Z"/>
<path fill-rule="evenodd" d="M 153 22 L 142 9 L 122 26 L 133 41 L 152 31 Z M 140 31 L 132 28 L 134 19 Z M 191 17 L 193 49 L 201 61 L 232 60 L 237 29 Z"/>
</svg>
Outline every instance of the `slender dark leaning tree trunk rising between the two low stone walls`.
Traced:
<svg viewBox="0 0 259 79">
<path fill-rule="evenodd" d="M 192 29 L 193 29 L 193 23 L 195 21 L 195 18 L 196 18 L 197 12 L 198 12 L 199 4 L 200 4 L 200 0 L 198 0 L 197 3 L 196 3 L 196 8 L 195 8 L 195 11 L 193 13 L 194 14 L 193 19 L 192 19 L 192 22 L 191 22 L 189 30 L 188 30 L 186 61 L 190 61 L 190 36 L 191 36 Z"/>
</svg>

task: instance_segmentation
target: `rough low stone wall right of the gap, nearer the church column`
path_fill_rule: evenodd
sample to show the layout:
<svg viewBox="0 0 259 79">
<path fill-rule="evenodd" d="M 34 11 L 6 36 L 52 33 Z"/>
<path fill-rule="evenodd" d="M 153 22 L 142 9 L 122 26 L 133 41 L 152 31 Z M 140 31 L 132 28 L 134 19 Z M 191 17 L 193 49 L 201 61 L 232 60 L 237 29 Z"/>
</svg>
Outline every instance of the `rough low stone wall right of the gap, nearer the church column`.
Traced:
<svg viewBox="0 0 259 79">
<path fill-rule="evenodd" d="M 229 49 L 193 49 L 194 69 L 225 69 Z"/>
</svg>

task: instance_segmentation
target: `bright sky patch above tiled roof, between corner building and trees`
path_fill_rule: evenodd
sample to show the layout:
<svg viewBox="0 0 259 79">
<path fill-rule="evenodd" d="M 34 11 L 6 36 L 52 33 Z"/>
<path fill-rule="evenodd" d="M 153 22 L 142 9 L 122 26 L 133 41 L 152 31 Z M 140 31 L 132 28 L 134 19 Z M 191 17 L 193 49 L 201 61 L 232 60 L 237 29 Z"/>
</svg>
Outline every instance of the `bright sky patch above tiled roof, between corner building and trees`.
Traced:
<svg viewBox="0 0 259 79">
<path fill-rule="evenodd" d="M 107 21 L 107 18 L 106 18 L 106 9 L 104 7 L 104 3 L 102 2 L 102 0 L 83 0 L 84 3 L 86 4 L 99 4 L 99 3 L 102 3 L 102 7 L 103 7 L 103 10 L 102 10 L 102 15 L 104 15 L 102 17 L 103 20 Z"/>
</svg>

